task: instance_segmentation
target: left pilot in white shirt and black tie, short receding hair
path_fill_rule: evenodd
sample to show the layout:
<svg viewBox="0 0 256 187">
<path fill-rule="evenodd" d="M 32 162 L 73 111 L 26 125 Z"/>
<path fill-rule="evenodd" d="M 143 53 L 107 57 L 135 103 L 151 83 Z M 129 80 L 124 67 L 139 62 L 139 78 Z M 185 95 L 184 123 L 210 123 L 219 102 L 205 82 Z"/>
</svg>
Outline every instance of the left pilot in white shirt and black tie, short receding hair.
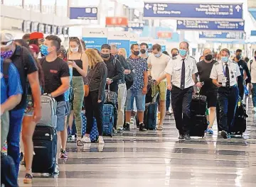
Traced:
<svg viewBox="0 0 256 187">
<path fill-rule="evenodd" d="M 181 42 L 179 55 L 173 57 L 167 65 L 167 89 L 171 90 L 171 105 L 173 106 L 176 128 L 179 139 L 190 140 L 191 101 L 193 86 L 196 82 L 196 60 L 187 55 L 188 42 Z"/>
</svg>

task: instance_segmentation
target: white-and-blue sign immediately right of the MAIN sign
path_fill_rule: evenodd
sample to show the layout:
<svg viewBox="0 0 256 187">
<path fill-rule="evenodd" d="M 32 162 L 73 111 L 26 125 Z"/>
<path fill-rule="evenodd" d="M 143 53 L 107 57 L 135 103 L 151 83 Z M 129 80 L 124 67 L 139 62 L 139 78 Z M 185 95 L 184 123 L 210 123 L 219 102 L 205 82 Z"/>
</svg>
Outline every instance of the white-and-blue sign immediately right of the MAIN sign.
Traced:
<svg viewBox="0 0 256 187">
<path fill-rule="evenodd" d="M 129 54 L 130 51 L 130 35 L 128 32 L 109 32 L 107 42 L 110 45 L 116 45 L 117 49 L 124 48 Z"/>
</svg>

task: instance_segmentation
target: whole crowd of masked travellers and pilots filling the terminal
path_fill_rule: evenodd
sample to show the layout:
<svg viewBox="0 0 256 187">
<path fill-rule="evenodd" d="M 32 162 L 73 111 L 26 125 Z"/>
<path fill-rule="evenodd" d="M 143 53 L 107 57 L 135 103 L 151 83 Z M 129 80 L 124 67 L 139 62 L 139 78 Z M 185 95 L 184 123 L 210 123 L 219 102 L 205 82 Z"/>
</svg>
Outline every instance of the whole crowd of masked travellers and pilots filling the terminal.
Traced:
<svg viewBox="0 0 256 187">
<path fill-rule="evenodd" d="M 228 49 L 220 50 L 220 60 L 214 60 L 210 49 L 203 51 L 202 60 L 188 55 L 188 42 L 181 42 L 179 49 L 168 52 L 155 44 L 149 55 L 146 43 L 132 44 L 131 55 L 123 48 L 102 44 L 101 50 L 86 49 L 77 37 L 70 37 L 68 51 L 61 46 L 56 35 L 31 33 L 22 40 L 1 31 L 1 147 L 7 142 L 7 154 L 14 159 L 18 179 L 20 143 L 26 161 L 24 183 L 31 183 L 33 162 L 33 132 L 41 119 L 41 94 L 57 101 L 58 152 L 55 174 L 58 174 L 58 158 L 67 159 L 68 133 L 72 134 L 75 120 L 77 146 L 90 143 L 90 132 L 95 118 L 98 143 L 103 139 L 103 106 L 105 90 L 117 95 L 114 132 L 121 134 L 131 130 L 131 115 L 137 108 L 137 129 L 146 131 L 144 124 L 145 98 L 149 84 L 151 97 L 159 95 L 159 123 L 156 130 L 163 130 L 169 107 L 172 107 L 179 139 L 190 140 L 191 101 L 193 86 L 206 96 L 209 110 L 206 132 L 213 134 L 216 106 L 221 136 L 230 138 L 230 125 L 235 117 L 238 97 L 243 98 L 244 86 L 252 91 L 252 102 L 256 113 L 256 52 L 247 63 L 241 60 L 241 50 L 230 60 Z M 6 75 L 6 64 L 8 64 Z M 8 79 L 6 79 L 8 77 Z M 149 82 L 149 77 L 151 80 Z M 246 84 L 245 84 L 246 82 Z M 82 136 L 82 106 L 87 118 L 86 132 Z M 68 125 L 67 125 L 68 124 Z M 69 126 L 69 128 L 68 128 Z M 67 128 L 69 132 L 67 132 Z M 22 130 L 21 130 L 22 129 Z M 22 142 L 20 142 L 20 136 Z"/>
</svg>

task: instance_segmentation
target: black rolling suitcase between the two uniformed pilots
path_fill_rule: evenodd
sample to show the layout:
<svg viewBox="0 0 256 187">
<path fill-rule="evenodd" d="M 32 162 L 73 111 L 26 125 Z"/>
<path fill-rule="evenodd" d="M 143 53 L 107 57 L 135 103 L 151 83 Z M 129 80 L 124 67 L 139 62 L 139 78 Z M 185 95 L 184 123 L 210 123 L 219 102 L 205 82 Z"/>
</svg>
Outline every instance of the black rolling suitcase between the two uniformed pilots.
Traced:
<svg viewBox="0 0 256 187">
<path fill-rule="evenodd" d="M 206 96 L 193 95 L 191 101 L 190 135 L 204 137 L 208 127 L 206 118 Z"/>
</svg>

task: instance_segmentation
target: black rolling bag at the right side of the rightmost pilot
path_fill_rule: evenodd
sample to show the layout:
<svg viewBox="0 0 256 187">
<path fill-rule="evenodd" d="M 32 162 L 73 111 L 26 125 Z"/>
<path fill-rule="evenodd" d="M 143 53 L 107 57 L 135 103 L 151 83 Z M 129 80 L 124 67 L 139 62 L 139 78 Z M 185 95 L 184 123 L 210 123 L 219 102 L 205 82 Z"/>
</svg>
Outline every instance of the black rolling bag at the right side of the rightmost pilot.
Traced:
<svg viewBox="0 0 256 187">
<path fill-rule="evenodd" d="M 231 135 L 241 135 L 246 130 L 246 105 L 241 100 L 238 101 L 238 106 L 235 110 L 235 118 L 233 124 L 230 126 Z"/>
</svg>

